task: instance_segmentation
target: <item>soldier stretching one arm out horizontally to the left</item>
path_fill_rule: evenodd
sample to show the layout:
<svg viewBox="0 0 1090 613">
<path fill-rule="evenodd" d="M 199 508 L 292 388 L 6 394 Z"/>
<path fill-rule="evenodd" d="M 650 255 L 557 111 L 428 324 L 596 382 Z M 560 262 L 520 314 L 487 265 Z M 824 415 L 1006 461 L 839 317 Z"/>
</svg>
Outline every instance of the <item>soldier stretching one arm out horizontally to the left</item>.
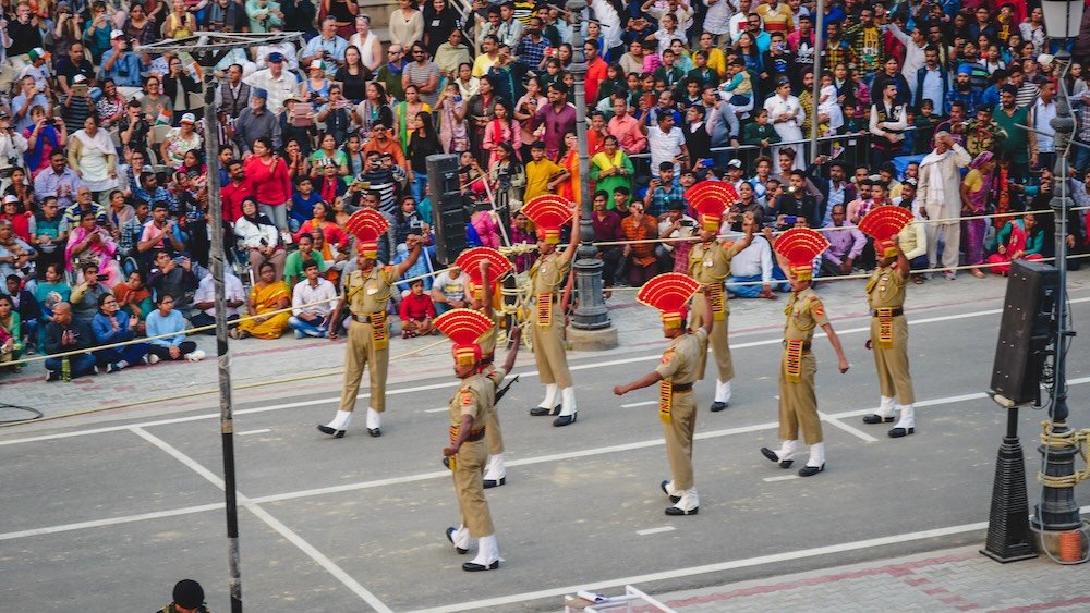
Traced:
<svg viewBox="0 0 1090 613">
<path fill-rule="evenodd" d="M 658 383 L 658 418 L 666 439 L 666 457 L 673 479 L 662 482 L 663 492 L 674 506 L 667 515 L 695 515 L 700 499 L 692 477 L 692 438 L 697 430 L 697 399 L 692 384 L 698 379 L 698 366 L 707 354 L 707 338 L 715 318 L 711 301 L 702 301 L 704 321 L 695 331 L 686 330 L 686 303 L 698 291 L 708 292 L 685 274 L 668 272 L 655 277 L 640 289 L 641 303 L 662 311 L 663 334 L 670 340 L 658 367 L 640 379 L 616 385 L 614 393 L 622 396 Z"/>
</svg>

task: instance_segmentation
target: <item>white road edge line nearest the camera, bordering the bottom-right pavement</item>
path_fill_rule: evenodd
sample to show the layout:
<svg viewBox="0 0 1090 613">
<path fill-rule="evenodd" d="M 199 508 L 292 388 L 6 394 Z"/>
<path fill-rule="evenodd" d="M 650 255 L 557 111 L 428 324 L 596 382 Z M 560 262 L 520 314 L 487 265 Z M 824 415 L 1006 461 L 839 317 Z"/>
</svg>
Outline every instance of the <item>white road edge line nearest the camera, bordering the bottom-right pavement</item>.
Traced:
<svg viewBox="0 0 1090 613">
<path fill-rule="evenodd" d="M 1083 506 L 1079 511 L 1082 513 L 1090 513 L 1090 506 Z M 744 560 L 731 560 L 728 562 L 717 562 L 715 564 L 690 566 L 688 568 L 677 568 L 675 571 L 664 571 L 662 573 L 649 573 L 646 575 L 637 575 L 634 577 L 621 577 L 619 579 L 609 579 L 592 584 L 581 584 L 574 586 L 567 586 L 562 588 L 530 591 L 523 593 L 516 593 L 511 596 L 501 596 L 498 598 L 489 598 L 485 600 L 474 600 L 470 602 L 461 602 L 459 604 L 448 604 L 445 606 L 437 606 L 435 609 L 424 609 L 416 611 L 416 613 L 449 613 L 453 611 L 469 611 L 471 609 L 485 609 L 485 608 L 509 609 L 511 604 L 538 600 L 543 598 L 562 597 L 568 593 L 576 593 L 579 590 L 594 591 L 594 590 L 608 589 L 626 585 L 642 585 L 642 584 L 650 584 L 653 581 L 677 579 L 679 577 L 691 577 L 694 575 L 704 575 L 707 573 L 723 573 L 725 571 L 734 571 L 736 568 L 749 568 L 753 566 L 763 566 L 765 564 L 778 564 L 782 562 L 789 562 L 792 560 L 806 560 L 808 557 L 818 557 L 821 555 L 829 555 L 834 553 L 845 553 L 848 551 L 859 551 L 875 547 L 885 547 L 889 544 L 912 542 L 912 541 L 933 539 L 938 537 L 948 537 L 952 535 L 976 532 L 979 530 L 983 530 L 985 528 L 988 528 L 988 522 L 977 522 L 974 524 L 961 524 L 960 526 L 935 528 L 933 530 L 920 530 L 918 532 L 906 532 L 903 535 L 879 537 L 875 539 L 851 541 L 851 542 L 837 543 L 825 547 L 814 547 L 810 549 L 800 549 L 797 551 L 787 551 L 784 553 L 775 553 L 772 555 L 747 557 Z"/>
</svg>

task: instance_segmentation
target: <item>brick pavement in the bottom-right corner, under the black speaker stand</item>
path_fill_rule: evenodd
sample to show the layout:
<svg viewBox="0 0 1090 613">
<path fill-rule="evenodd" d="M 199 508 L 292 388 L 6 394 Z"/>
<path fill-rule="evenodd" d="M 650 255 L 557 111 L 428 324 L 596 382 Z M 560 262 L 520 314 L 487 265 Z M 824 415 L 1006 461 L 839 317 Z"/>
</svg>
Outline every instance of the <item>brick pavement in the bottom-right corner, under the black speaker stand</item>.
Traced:
<svg viewBox="0 0 1090 613">
<path fill-rule="evenodd" d="M 1045 555 L 1000 564 L 979 549 L 932 551 L 653 596 L 682 612 L 1090 610 L 1088 566 L 1059 565 Z"/>
</svg>

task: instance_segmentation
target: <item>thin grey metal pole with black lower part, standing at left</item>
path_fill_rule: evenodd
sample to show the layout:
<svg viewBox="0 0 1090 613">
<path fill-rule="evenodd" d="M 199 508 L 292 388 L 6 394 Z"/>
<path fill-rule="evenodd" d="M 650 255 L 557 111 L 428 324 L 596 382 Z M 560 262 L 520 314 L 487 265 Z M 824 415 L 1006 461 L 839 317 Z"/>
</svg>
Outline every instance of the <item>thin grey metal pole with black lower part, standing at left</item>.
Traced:
<svg viewBox="0 0 1090 613">
<path fill-rule="evenodd" d="M 219 197 L 219 118 L 216 114 L 216 77 L 206 66 L 205 158 L 208 168 L 208 208 L 211 219 L 211 278 L 216 287 L 216 356 L 219 371 L 219 426 L 223 446 L 223 495 L 227 503 L 227 560 L 231 611 L 242 611 L 239 566 L 239 506 L 234 483 L 234 416 L 231 404 L 231 353 L 227 336 L 227 293 L 223 282 L 223 203 Z"/>
</svg>

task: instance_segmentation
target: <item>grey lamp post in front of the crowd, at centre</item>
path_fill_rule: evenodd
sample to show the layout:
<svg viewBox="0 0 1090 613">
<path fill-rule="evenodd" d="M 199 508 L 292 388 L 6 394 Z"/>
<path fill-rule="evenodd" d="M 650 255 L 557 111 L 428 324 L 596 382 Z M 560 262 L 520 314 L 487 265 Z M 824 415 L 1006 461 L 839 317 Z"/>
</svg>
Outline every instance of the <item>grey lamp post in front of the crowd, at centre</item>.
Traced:
<svg viewBox="0 0 1090 613">
<path fill-rule="evenodd" d="M 571 323 L 574 328 L 568 340 L 577 350 L 607 350 L 617 346 L 617 329 L 609 322 L 609 310 L 603 297 L 602 267 L 594 248 L 594 225 L 591 221 L 592 198 L 590 161 L 586 142 L 586 58 L 583 53 L 582 21 L 586 10 L 585 0 L 570 0 L 565 10 L 569 11 L 572 26 L 572 59 L 568 70 L 576 77 L 576 137 L 579 147 L 579 248 L 576 250 L 576 290 L 579 306 L 576 307 Z M 574 232 L 574 229 L 572 229 Z"/>
</svg>

